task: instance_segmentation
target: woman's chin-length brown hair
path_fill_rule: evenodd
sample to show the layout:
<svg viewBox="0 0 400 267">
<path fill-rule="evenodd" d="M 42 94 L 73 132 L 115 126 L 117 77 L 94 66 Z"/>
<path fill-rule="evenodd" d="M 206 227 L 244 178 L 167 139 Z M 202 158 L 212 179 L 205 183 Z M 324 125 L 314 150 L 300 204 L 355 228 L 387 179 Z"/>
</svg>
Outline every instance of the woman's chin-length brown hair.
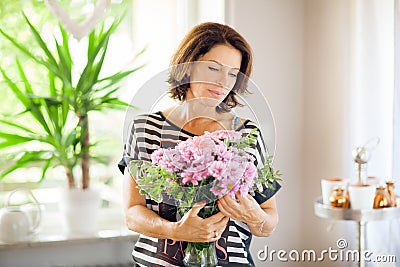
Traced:
<svg viewBox="0 0 400 267">
<path fill-rule="evenodd" d="M 206 54 L 216 45 L 230 45 L 240 51 L 242 61 L 240 72 L 232 90 L 217 107 L 217 111 L 228 112 L 237 105 L 241 105 L 235 94 L 248 92 L 247 81 L 250 77 L 253 55 L 250 45 L 234 29 L 227 25 L 205 22 L 193 27 L 183 38 L 178 49 L 171 59 L 171 70 L 168 77 L 170 96 L 180 101 L 186 99 L 190 87 L 189 62 L 194 62 Z M 187 64 L 185 64 L 187 63 Z"/>
</svg>

